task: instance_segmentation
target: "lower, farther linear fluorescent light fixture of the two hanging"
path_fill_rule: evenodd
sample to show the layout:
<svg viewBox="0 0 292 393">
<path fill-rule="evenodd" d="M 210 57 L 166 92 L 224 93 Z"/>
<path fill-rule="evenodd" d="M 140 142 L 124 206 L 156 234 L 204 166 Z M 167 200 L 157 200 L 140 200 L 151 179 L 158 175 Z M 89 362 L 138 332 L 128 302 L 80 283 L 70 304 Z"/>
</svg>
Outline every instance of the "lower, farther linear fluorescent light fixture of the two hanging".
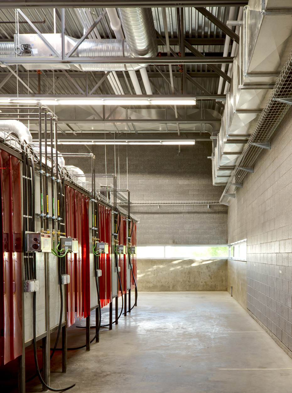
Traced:
<svg viewBox="0 0 292 393">
<path fill-rule="evenodd" d="M 58 140 L 60 145 L 80 145 L 85 143 L 87 145 L 194 145 L 195 141 L 192 140 Z"/>
</svg>

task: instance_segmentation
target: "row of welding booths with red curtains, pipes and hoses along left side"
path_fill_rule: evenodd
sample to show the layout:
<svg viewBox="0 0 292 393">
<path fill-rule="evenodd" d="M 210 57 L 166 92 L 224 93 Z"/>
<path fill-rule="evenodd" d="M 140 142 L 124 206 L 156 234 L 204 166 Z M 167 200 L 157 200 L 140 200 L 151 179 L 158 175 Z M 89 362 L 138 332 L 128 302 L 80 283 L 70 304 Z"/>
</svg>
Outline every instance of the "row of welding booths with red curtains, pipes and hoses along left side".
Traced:
<svg viewBox="0 0 292 393">
<path fill-rule="evenodd" d="M 57 119 L 46 108 L 35 110 L 38 146 L 19 121 L 0 124 L 0 363 L 18 359 L 19 391 L 24 392 L 25 350 L 33 344 L 43 388 L 63 391 L 74 385 L 49 386 L 50 358 L 62 350 L 62 372 L 66 373 L 67 327 L 86 318 L 86 334 L 80 329 L 80 335 L 84 335 L 82 347 L 89 351 L 90 343 L 99 341 L 101 308 L 109 305 L 112 329 L 122 312 L 126 316 L 136 304 L 137 220 L 130 214 L 130 191 L 117 190 L 114 175 L 96 174 L 93 154 L 85 157 L 92 163 L 91 184 L 65 166 L 58 153 Z M 95 179 L 104 176 L 113 181 L 106 191 L 95 185 Z M 124 306 L 120 315 L 119 297 Z M 93 310 L 96 326 L 90 335 Z M 54 331 L 57 340 L 50 342 Z M 37 360 L 40 345 L 42 369 Z"/>
</svg>

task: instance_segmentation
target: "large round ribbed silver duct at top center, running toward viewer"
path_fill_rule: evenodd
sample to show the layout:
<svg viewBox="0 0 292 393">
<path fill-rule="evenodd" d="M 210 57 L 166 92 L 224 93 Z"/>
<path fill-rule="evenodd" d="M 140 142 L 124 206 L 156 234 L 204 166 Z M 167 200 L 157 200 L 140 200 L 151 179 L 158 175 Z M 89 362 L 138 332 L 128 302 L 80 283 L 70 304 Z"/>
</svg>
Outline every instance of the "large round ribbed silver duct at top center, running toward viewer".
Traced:
<svg viewBox="0 0 292 393">
<path fill-rule="evenodd" d="M 118 8 L 132 57 L 155 57 L 157 39 L 151 8 Z"/>
</svg>

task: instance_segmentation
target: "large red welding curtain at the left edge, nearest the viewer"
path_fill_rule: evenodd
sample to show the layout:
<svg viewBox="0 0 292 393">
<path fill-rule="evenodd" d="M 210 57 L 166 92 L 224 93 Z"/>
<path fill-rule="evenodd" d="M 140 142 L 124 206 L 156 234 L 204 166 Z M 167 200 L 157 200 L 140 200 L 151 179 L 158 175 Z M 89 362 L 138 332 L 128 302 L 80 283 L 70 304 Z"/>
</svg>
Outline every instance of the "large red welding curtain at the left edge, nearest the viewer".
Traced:
<svg viewBox="0 0 292 393">
<path fill-rule="evenodd" d="M 0 365 L 22 354 L 22 271 L 20 163 L 0 153 L 3 255 L 0 269 Z"/>
</svg>

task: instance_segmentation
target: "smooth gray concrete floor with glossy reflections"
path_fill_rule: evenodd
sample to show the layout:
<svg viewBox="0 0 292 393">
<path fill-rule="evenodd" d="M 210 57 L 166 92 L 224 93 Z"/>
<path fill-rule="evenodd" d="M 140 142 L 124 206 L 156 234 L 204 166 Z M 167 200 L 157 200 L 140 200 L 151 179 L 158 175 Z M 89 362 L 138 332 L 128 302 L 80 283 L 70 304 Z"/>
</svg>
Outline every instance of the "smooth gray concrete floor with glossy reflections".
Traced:
<svg viewBox="0 0 292 393">
<path fill-rule="evenodd" d="M 84 335 L 69 329 L 68 346 Z M 290 393 L 292 382 L 292 359 L 227 292 L 140 292 L 89 353 L 69 353 L 67 374 L 60 353 L 51 370 L 51 386 L 75 382 L 72 393 Z"/>
</svg>

